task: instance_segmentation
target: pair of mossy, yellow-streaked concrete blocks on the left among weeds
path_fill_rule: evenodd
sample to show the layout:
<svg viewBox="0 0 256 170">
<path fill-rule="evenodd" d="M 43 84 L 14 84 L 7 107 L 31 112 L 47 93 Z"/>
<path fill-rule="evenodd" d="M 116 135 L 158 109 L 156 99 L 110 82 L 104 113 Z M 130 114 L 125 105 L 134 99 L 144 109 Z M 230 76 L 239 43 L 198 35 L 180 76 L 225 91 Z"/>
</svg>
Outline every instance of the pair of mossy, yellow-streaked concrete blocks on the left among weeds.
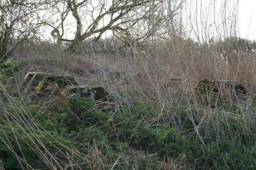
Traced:
<svg viewBox="0 0 256 170">
<path fill-rule="evenodd" d="M 107 101 L 109 95 L 103 87 L 98 84 L 78 85 L 70 75 L 46 74 L 42 72 L 29 72 L 20 87 L 24 93 L 32 92 L 36 96 L 44 96 L 48 91 L 53 91 L 57 85 L 61 94 L 73 96 L 79 93 L 82 97 L 91 98 L 95 101 Z"/>
</svg>

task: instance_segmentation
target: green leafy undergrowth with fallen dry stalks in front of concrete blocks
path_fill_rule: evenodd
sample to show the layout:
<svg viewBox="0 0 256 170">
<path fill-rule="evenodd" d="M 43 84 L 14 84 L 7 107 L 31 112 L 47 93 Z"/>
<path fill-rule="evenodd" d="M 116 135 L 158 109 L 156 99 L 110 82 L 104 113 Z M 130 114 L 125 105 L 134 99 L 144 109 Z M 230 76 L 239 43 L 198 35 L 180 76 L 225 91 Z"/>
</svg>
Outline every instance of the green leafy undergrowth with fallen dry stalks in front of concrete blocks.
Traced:
<svg viewBox="0 0 256 170">
<path fill-rule="evenodd" d="M 18 65 L 1 65 L 4 169 L 256 168 L 255 119 L 228 96 L 179 96 L 172 108 L 131 97 L 111 111 L 79 94 L 24 101 L 3 85 Z"/>
</svg>

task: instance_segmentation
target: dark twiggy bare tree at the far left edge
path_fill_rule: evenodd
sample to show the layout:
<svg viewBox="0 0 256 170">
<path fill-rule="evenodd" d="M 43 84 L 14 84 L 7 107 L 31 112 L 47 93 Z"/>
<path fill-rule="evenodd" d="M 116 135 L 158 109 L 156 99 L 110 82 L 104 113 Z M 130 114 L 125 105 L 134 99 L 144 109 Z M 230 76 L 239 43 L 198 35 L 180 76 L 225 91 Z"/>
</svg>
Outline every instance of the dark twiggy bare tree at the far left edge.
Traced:
<svg viewBox="0 0 256 170">
<path fill-rule="evenodd" d="M 31 2 L 0 1 L 0 63 L 6 62 L 20 43 L 36 35 L 36 4 Z"/>
</svg>

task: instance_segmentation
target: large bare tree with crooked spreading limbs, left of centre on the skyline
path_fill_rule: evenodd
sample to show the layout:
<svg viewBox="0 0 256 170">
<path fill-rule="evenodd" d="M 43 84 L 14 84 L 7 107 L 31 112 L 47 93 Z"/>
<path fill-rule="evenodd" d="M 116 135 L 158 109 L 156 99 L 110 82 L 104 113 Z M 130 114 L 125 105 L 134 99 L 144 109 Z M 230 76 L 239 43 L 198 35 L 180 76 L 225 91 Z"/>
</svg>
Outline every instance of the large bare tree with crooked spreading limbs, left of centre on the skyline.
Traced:
<svg viewBox="0 0 256 170">
<path fill-rule="evenodd" d="M 51 35 L 67 42 L 75 53 L 81 41 L 98 41 L 108 30 L 124 41 L 144 40 L 164 34 L 164 27 L 181 8 L 181 1 L 172 0 L 58 0 L 46 1 L 41 23 L 52 28 Z M 168 8 L 171 7 L 171 8 Z M 171 10 L 169 10 L 171 9 Z M 73 36 L 67 36 L 73 35 Z M 120 34 L 122 36 L 120 36 Z"/>
</svg>

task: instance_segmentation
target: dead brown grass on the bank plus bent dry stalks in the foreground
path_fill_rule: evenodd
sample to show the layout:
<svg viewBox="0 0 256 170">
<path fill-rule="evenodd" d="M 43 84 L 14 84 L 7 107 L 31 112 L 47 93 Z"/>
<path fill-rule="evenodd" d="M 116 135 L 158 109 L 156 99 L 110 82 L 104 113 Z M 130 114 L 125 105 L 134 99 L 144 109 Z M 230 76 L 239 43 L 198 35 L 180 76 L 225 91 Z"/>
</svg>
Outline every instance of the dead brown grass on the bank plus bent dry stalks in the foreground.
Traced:
<svg viewBox="0 0 256 170">
<path fill-rule="evenodd" d="M 226 30 L 224 30 L 226 31 Z M 174 33 L 169 33 L 174 35 Z M 230 33 L 233 34 L 232 32 Z M 179 35 L 179 33 L 177 33 Z M 228 35 L 229 36 L 229 35 Z M 170 38 L 171 39 L 171 38 Z M 41 44 L 40 44 L 41 45 Z M 39 45 L 39 46 L 40 46 Z M 197 136 L 200 143 L 205 144 L 212 133 L 217 134 L 215 140 L 219 141 L 220 136 L 229 130 L 230 138 L 236 143 L 238 140 L 236 136 L 239 136 L 239 132 L 232 131 L 231 126 L 228 124 L 229 119 L 235 119 L 237 123 L 241 124 L 244 129 L 244 134 L 251 134 L 248 130 L 247 124 L 242 120 L 255 120 L 256 109 L 256 57 L 255 54 L 248 55 L 245 53 L 234 53 L 232 50 L 225 56 L 215 50 L 212 46 L 205 46 L 205 44 L 197 45 L 187 38 L 173 38 L 161 43 L 154 44 L 154 51 L 147 51 L 141 53 L 138 48 L 134 47 L 133 53 L 136 55 L 130 57 L 123 57 L 118 51 L 113 54 L 105 53 L 92 53 L 92 54 L 69 54 L 63 52 L 62 48 L 56 46 L 38 47 L 30 46 L 30 50 L 23 52 L 26 55 L 25 60 L 28 60 L 30 64 L 27 67 L 20 69 L 20 72 L 16 74 L 17 86 L 22 77 L 27 72 L 51 72 L 60 75 L 70 74 L 74 76 L 79 84 L 97 83 L 103 86 L 109 91 L 111 96 L 114 96 L 118 107 L 129 107 L 136 104 L 144 106 L 145 109 L 148 104 L 160 108 L 159 113 L 155 115 L 155 119 L 141 120 L 151 126 L 164 127 L 166 122 L 170 128 L 177 129 L 179 133 L 184 132 L 183 127 L 186 125 L 181 122 L 181 110 L 182 102 L 185 101 L 187 116 L 190 122 L 193 124 L 193 130 L 188 134 L 188 138 Z M 135 53 L 136 52 L 136 53 Z M 146 53 L 146 55 L 145 55 Z M 204 97 L 207 98 L 207 102 L 218 104 L 218 101 L 225 100 L 230 105 L 236 104 L 240 112 L 221 110 L 217 107 L 210 105 L 204 105 L 199 102 L 202 98 L 200 94 L 195 91 L 195 87 L 202 79 L 228 79 L 237 80 L 245 85 L 248 93 L 244 100 L 231 96 L 223 91 L 217 94 L 208 93 Z M 7 91 L 0 82 L 0 86 L 4 91 L 4 98 L 9 101 L 10 107 L 14 109 L 15 115 L 10 116 L 12 113 L 8 112 L 3 106 L 0 100 L 0 111 L 7 120 L 7 126 L 12 130 L 12 135 L 15 136 L 15 142 L 19 145 L 17 138 L 22 138 L 19 133 L 15 131 L 15 126 L 26 126 L 26 131 L 20 126 L 20 130 L 24 131 L 26 137 L 29 138 L 31 143 L 26 143 L 34 153 L 40 157 L 44 164 L 49 165 L 51 169 L 80 169 L 80 166 L 73 161 L 73 155 L 84 159 L 84 163 L 90 164 L 92 169 L 102 169 L 104 164 L 104 155 L 98 150 L 97 144 L 93 141 L 93 148 L 91 148 L 91 159 L 84 158 L 84 153 L 70 149 L 59 143 L 54 137 L 49 140 L 47 144 L 61 145 L 65 148 L 66 152 L 55 148 L 55 152 L 58 157 L 62 157 L 70 162 L 70 164 L 61 164 L 57 160 L 57 156 L 52 155 L 49 152 L 45 143 L 41 142 L 41 139 L 36 134 L 35 126 L 38 130 L 47 133 L 40 127 L 39 124 L 33 122 L 33 116 L 30 115 L 28 108 L 24 106 L 18 106 L 18 103 L 8 94 Z M 22 94 L 21 94 L 22 95 Z M 24 97 L 24 96 L 22 96 Z M 15 110 L 17 108 L 24 108 L 24 110 Z M 40 108 L 38 109 L 39 112 Z M 41 110 L 40 110 L 41 111 Z M 196 114 L 195 114 L 196 112 Z M 20 114 L 19 114 L 20 113 Z M 115 114 L 115 113 L 113 113 Z M 125 113 L 127 121 L 131 115 Z M 139 114 L 139 113 L 136 113 Z M 30 122 L 26 122 L 29 118 Z M 241 119 L 239 119 L 241 118 Z M 10 124 L 10 121 L 14 124 Z M 120 123 L 121 124 L 121 123 Z M 115 128 L 115 125 L 113 125 Z M 201 129 L 204 128 L 204 131 Z M 43 134 L 42 134 L 43 135 Z M 51 136 L 51 134 L 48 134 Z M 5 139 L 6 145 L 9 147 L 10 152 L 22 164 L 26 161 L 23 151 L 17 155 L 9 141 L 8 136 Z M 28 140 L 24 140 L 27 142 Z M 55 143 L 56 142 L 56 143 Z M 118 141 L 119 142 L 119 141 Z M 146 153 L 142 153 L 136 161 L 140 161 L 142 157 L 145 157 Z M 111 160 L 111 169 L 119 167 L 119 164 L 127 165 L 130 162 L 129 157 L 118 158 L 117 160 Z M 179 158 L 179 162 L 173 158 L 166 158 L 165 163 L 161 164 L 159 169 L 195 169 L 187 164 L 186 155 L 183 154 Z M 25 162 L 26 163 L 26 162 Z M 139 169 L 135 163 L 134 169 Z M 0 161 L 0 169 L 2 162 Z M 23 169 L 32 169 L 27 164 L 27 167 Z M 128 167 L 128 165 L 127 165 Z"/>
</svg>

